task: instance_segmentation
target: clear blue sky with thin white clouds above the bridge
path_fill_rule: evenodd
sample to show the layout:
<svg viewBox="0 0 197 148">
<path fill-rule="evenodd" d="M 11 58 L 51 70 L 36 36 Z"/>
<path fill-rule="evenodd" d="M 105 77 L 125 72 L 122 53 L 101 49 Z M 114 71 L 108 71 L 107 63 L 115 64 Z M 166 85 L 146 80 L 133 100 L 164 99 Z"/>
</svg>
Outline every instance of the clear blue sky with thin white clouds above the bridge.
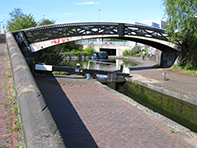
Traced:
<svg viewBox="0 0 197 148">
<path fill-rule="evenodd" d="M 56 24 L 68 22 L 160 23 L 164 18 L 163 0 L 0 0 L 0 22 L 20 8 L 36 22 L 43 18 Z M 3 22 L 3 23 L 2 23 Z"/>
</svg>

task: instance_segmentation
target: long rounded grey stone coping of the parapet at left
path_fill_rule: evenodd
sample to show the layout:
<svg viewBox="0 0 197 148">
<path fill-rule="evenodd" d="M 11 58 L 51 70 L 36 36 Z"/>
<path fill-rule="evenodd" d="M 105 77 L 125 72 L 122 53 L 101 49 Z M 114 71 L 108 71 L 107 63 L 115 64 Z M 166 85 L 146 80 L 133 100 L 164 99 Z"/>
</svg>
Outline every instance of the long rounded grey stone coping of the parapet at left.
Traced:
<svg viewBox="0 0 197 148">
<path fill-rule="evenodd" d="M 11 32 L 6 42 L 27 148 L 65 148 L 57 125 Z"/>
</svg>

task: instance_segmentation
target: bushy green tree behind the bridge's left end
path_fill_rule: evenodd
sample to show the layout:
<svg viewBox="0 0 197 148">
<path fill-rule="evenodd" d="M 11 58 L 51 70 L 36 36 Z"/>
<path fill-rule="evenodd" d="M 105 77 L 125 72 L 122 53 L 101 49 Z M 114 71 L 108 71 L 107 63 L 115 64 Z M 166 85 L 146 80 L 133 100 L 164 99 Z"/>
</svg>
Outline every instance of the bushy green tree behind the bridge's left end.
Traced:
<svg viewBox="0 0 197 148">
<path fill-rule="evenodd" d="M 7 28 L 9 31 L 36 27 L 37 23 L 31 14 L 24 14 L 21 9 L 15 8 L 10 14 Z"/>
</svg>

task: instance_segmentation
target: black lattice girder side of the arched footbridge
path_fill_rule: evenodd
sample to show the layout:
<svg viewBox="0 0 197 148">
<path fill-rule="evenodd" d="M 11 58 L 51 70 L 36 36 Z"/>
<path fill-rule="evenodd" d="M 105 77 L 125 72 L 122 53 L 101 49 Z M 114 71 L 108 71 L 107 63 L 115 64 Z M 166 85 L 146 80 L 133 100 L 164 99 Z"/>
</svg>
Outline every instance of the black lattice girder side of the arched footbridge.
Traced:
<svg viewBox="0 0 197 148">
<path fill-rule="evenodd" d="M 139 36 L 168 41 L 168 35 L 163 29 L 128 23 L 66 23 L 22 30 L 29 44 L 65 38 L 87 35 L 112 35 L 120 38 L 127 36 Z"/>
</svg>

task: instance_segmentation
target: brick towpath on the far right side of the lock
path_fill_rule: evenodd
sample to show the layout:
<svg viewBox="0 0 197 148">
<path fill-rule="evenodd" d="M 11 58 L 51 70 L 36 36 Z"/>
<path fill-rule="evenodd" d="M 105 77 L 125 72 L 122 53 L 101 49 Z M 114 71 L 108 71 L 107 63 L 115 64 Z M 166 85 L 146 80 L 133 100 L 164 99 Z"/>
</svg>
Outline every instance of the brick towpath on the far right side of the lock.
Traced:
<svg viewBox="0 0 197 148">
<path fill-rule="evenodd" d="M 131 74 L 139 74 L 146 78 L 155 79 L 158 80 L 161 85 L 171 87 L 186 93 L 192 93 L 197 96 L 197 76 L 175 73 L 170 71 L 169 69 L 151 69 L 151 66 L 155 64 L 154 62 L 149 61 L 148 59 L 143 61 L 141 58 L 134 57 L 132 57 L 132 59 L 142 64 L 138 65 L 137 67 L 130 68 Z M 168 81 L 163 80 L 163 72 L 167 72 L 169 79 Z"/>
</svg>

